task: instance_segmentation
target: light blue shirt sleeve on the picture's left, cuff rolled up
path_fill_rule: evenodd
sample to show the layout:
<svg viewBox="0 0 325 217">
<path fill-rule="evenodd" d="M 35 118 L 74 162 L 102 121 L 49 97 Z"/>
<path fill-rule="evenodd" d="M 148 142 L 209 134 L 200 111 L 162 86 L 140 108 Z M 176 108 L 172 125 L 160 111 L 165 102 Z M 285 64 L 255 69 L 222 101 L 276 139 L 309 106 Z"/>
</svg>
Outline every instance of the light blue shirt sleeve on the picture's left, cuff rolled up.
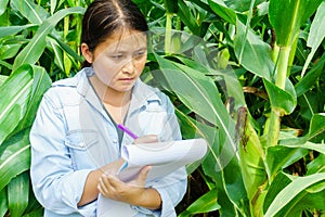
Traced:
<svg viewBox="0 0 325 217">
<path fill-rule="evenodd" d="M 94 216 L 95 204 L 77 206 L 90 169 L 73 169 L 65 128 L 62 108 L 44 97 L 30 131 L 34 192 L 47 209 L 56 214 Z"/>
</svg>

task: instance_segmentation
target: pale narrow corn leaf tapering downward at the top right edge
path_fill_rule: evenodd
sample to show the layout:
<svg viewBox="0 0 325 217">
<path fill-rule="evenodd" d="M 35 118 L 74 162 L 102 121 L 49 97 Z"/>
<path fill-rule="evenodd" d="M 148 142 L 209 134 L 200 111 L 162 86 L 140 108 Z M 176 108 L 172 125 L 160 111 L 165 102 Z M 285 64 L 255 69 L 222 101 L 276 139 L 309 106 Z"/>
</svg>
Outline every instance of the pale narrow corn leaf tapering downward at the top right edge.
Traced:
<svg viewBox="0 0 325 217">
<path fill-rule="evenodd" d="M 321 46 L 322 41 L 325 38 L 325 31 L 323 30 L 323 27 L 325 26 L 325 1 L 321 3 L 321 5 L 317 9 L 316 15 L 313 20 L 313 23 L 310 28 L 310 33 L 307 40 L 307 46 L 312 48 L 310 54 L 307 58 L 307 61 L 303 65 L 301 77 L 304 76 L 304 73 L 307 71 L 307 67 L 309 66 L 310 62 L 312 61 L 312 58 L 314 56 L 317 48 Z"/>
</svg>

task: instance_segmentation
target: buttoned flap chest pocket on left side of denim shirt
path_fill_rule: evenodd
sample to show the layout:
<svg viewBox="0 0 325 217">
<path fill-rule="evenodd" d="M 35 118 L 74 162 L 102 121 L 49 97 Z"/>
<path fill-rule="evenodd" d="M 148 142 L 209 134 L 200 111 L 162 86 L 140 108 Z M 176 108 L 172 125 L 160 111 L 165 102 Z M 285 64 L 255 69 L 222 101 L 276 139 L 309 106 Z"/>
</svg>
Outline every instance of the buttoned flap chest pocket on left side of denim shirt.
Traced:
<svg viewBox="0 0 325 217">
<path fill-rule="evenodd" d="M 65 144 L 69 150 L 75 170 L 92 169 L 96 166 L 98 143 L 98 132 L 95 130 L 73 130 L 66 135 Z"/>
</svg>

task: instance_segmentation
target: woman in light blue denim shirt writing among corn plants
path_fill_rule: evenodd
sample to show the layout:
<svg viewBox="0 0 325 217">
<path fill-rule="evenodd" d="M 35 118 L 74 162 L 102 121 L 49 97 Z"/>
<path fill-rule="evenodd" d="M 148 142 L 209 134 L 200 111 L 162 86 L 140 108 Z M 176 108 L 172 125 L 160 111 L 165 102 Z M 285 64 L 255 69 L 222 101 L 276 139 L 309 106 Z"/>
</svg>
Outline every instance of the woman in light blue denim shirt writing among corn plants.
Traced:
<svg viewBox="0 0 325 217">
<path fill-rule="evenodd" d="M 52 85 L 30 132 L 32 188 L 44 216 L 95 216 L 100 193 L 129 204 L 134 216 L 176 216 L 186 191 L 184 168 L 150 182 L 150 166 L 128 183 L 114 176 L 123 145 L 181 139 L 169 99 L 139 79 L 146 33 L 130 0 L 89 5 L 82 20 L 84 67 Z M 118 124 L 140 138 L 134 141 Z"/>
</svg>

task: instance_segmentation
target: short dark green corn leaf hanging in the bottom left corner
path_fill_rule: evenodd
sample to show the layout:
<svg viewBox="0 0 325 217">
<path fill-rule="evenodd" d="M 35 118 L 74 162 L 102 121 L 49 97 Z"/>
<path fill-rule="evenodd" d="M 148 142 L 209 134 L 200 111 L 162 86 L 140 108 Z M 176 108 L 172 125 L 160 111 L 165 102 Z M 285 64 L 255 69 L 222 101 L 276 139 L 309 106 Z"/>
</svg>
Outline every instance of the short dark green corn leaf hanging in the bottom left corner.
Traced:
<svg viewBox="0 0 325 217">
<path fill-rule="evenodd" d="M 8 204 L 11 217 L 21 217 L 28 205 L 29 176 L 24 173 L 8 184 Z"/>
</svg>

